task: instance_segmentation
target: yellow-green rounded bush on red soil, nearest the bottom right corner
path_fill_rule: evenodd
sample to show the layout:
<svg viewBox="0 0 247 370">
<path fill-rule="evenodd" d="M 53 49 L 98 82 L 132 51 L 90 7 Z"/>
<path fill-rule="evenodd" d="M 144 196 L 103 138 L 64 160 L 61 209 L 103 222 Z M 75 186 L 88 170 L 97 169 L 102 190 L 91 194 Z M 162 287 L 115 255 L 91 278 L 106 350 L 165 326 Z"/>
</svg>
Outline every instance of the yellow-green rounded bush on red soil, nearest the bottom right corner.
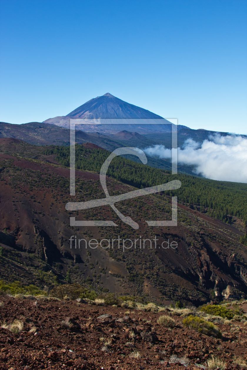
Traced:
<svg viewBox="0 0 247 370">
<path fill-rule="evenodd" d="M 204 319 L 196 316 L 188 316 L 183 320 L 183 325 L 196 330 L 198 333 L 206 334 L 208 336 L 214 336 L 221 338 L 221 331 L 211 322 L 207 322 Z"/>
</svg>

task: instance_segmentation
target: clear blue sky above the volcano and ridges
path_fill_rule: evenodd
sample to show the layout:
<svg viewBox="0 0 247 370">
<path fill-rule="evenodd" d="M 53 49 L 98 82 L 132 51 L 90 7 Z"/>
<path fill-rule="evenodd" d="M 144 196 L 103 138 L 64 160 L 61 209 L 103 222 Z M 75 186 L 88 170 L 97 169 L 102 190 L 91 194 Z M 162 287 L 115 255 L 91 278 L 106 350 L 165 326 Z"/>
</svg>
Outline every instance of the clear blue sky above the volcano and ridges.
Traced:
<svg viewBox="0 0 247 370">
<path fill-rule="evenodd" d="M 1 0 L 0 120 L 110 92 L 191 128 L 247 134 L 247 1 Z"/>
</svg>

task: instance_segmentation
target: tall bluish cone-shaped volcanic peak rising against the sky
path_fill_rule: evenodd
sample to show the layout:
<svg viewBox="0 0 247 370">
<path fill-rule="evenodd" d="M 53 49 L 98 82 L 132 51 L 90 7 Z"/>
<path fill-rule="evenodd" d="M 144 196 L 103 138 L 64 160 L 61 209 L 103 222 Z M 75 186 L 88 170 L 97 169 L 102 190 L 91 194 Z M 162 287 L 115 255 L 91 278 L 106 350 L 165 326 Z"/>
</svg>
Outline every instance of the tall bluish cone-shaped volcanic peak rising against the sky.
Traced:
<svg viewBox="0 0 247 370">
<path fill-rule="evenodd" d="M 121 130 L 127 129 L 126 125 L 129 126 L 128 120 L 129 119 L 155 119 L 155 120 L 164 120 L 163 117 L 148 111 L 147 109 L 137 107 L 136 105 L 127 103 L 119 98 L 116 98 L 114 95 L 111 95 L 109 92 L 102 96 L 98 96 L 97 98 L 93 98 L 86 103 L 80 105 L 80 107 L 76 108 L 72 112 L 68 113 L 65 116 L 58 116 L 54 118 L 49 118 L 43 123 L 55 124 L 61 127 L 69 128 L 70 118 L 83 118 L 86 120 L 94 120 L 94 119 L 122 119 L 123 124 L 119 125 L 116 129 L 109 129 L 106 125 L 102 124 L 99 128 L 97 125 L 98 132 L 111 132 L 116 133 Z M 166 120 L 164 120 L 164 123 Z M 168 122 L 168 121 L 167 121 Z M 157 122 L 158 123 L 158 122 Z M 104 127 L 103 127 L 104 126 Z M 115 126 L 115 125 L 114 125 Z M 121 126 L 121 127 L 120 127 Z M 136 131 L 135 127 L 131 125 L 128 127 L 128 131 Z M 140 122 L 140 126 L 141 122 Z M 161 126 L 161 125 L 160 125 Z M 167 125 L 164 125 L 167 126 Z M 178 129 L 185 127 L 181 126 Z M 94 131 L 96 130 L 95 125 L 89 126 L 85 128 L 85 125 L 78 125 L 77 129 L 82 131 Z M 144 125 L 144 127 L 140 127 L 138 132 L 157 132 L 157 127 L 152 127 L 151 125 Z M 164 127 L 161 131 L 170 131 L 170 127 Z"/>
</svg>

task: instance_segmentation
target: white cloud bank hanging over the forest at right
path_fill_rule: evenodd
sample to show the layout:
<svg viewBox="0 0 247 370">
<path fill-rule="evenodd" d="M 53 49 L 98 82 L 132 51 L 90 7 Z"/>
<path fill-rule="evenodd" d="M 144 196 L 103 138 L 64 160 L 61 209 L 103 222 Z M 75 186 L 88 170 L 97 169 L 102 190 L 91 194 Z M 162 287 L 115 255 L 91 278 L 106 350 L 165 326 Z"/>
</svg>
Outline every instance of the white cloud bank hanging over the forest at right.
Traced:
<svg viewBox="0 0 247 370">
<path fill-rule="evenodd" d="M 192 139 L 178 148 L 178 163 L 195 165 L 195 174 L 208 179 L 247 183 L 247 138 L 220 134 L 199 144 Z M 154 145 L 144 149 L 149 156 L 171 158 L 171 149 Z"/>
</svg>

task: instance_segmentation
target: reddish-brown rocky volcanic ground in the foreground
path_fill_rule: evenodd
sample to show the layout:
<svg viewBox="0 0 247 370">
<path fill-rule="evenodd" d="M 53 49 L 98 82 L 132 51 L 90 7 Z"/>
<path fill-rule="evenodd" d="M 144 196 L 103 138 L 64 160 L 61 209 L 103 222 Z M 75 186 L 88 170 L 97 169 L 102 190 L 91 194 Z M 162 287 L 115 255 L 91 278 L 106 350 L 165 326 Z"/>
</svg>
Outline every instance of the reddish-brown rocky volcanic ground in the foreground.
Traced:
<svg viewBox="0 0 247 370">
<path fill-rule="evenodd" d="M 247 327 L 241 322 L 217 324 L 223 334 L 217 339 L 183 327 L 178 316 L 173 316 L 173 328 L 158 325 L 165 312 L 126 312 L 76 300 L 1 297 L 0 301 L 1 324 L 17 319 L 24 324 L 16 334 L 0 329 L 0 370 L 196 370 L 206 368 L 211 356 L 225 361 L 226 369 L 241 369 L 234 356 L 247 356 Z M 133 353 L 139 357 L 131 357 Z"/>
</svg>

